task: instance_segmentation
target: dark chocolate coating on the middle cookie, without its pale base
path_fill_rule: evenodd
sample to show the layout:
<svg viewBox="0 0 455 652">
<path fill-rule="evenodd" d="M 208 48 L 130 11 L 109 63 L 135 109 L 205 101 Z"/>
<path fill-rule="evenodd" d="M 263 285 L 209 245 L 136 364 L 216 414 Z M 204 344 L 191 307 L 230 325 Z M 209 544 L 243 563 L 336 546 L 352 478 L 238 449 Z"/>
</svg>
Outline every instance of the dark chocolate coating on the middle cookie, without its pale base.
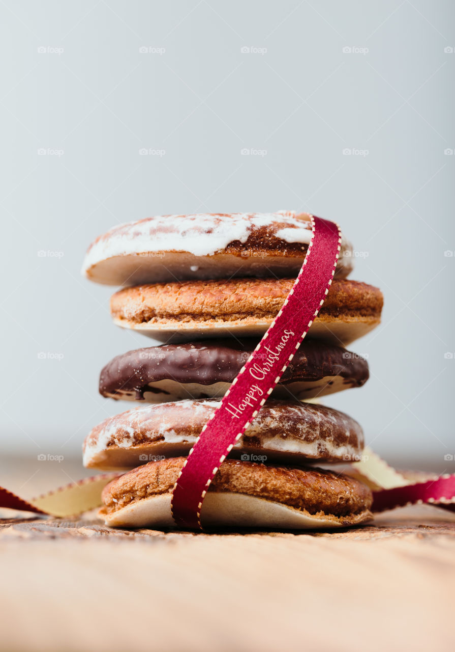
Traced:
<svg viewBox="0 0 455 652">
<path fill-rule="evenodd" d="M 258 340 L 208 340 L 187 344 L 152 346 L 117 355 L 100 374 L 100 394 L 134 392 L 143 400 L 150 383 L 172 379 L 178 383 L 212 385 L 232 383 L 254 351 Z M 361 387 L 368 380 L 368 363 L 362 357 L 319 340 L 303 340 L 281 377 L 286 385 L 340 376 L 346 385 Z"/>
</svg>

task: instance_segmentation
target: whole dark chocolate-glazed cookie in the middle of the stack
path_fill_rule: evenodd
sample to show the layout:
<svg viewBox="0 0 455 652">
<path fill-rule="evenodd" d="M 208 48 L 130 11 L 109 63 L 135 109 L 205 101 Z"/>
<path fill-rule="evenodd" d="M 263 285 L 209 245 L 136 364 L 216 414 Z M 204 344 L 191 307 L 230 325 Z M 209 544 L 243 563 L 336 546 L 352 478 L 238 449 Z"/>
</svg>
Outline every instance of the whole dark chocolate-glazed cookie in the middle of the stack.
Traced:
<svg viewBox="0 0 455 652">
<path fill-rule="evenodd" d="M 100 394 L 150 403 L 222 398 L 256 344 L 255 338 L 243 338 L 128 351 L 103 368 Z M 303 340 L 273 397 L 305 400 L 361 387 L 367 379 L 368 363 L 361 356 L 318 340 Z"/>
</svg>

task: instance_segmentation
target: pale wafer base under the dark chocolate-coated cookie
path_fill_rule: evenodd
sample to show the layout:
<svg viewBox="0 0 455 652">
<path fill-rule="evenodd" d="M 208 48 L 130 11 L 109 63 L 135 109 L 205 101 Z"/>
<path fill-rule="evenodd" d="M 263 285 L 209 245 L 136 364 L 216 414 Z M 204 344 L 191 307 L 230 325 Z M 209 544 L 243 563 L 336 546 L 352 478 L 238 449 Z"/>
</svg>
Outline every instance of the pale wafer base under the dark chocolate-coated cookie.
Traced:
<svg viewBox="0 0 455 652">
<path fill-rule="evenodd" d="M 331 383 L 331 384 L 329 384 Z M 163 403 L 176 401 L 184 398 L 223 398 L 231 383 L 212 383 L 212 385 L 200 385 L 200 383 L 178 383 L 175 380 L 165 379 L 156 383 L 148 383 L 154 391 L 144 392 L 146 403 Z M 352 385 L 344 381 L 340 376 L 325 376 L 320 380 L 299 381 L 277 385 L 271 394 L 271 398 L 297 398 L 308 400 L 318 396 L 325 396 L 340 392 L 343 389 L 350 389 Z M 106 393 L 107 398 L 117 400 L 137 400 L 134 391 L 118 390 L 116 394 Z"/>
</svg>

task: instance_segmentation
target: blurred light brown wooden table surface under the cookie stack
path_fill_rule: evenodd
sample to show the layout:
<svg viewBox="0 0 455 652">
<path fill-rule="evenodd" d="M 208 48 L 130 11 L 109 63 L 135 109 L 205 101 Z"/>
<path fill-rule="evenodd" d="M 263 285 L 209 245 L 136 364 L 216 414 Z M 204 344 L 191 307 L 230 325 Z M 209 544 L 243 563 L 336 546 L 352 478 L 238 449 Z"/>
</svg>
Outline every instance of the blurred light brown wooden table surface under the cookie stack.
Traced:
<svg viewBox="0 0 455 652">
<path fill-rule="evenodd" d="M 455 649 L 455 515 L 430 506 L 305 534 L 3 519 L 0 577 L 8 652 Z"/>
</svg>

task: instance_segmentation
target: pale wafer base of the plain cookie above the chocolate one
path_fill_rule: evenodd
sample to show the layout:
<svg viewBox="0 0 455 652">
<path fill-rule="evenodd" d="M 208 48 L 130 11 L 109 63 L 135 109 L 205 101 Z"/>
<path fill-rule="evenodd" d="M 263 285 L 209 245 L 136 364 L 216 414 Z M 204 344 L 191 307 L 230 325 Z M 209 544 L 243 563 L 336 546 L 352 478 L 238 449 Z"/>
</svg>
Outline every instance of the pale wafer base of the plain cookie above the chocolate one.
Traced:
<svg viewBox="0 0 455 652">
<path fill-rule="evenodd" d="M 241 321 L 178 321 L 178 319 L 166 319 L 161 323 L 143 322 L 137 323 L 129 319 L 113 318 L 114 323 L 121 328 L 128 328 L 158 342 L 189 342 L 195 339 L 225 337 L 234 335 L 236 337 L 262 336 L 268 330 L 272 319 L 257 320 L 254 317 L 242 319 Z M 354 340 L 358 340 L 380 323 L 378 317 L 338 317 L 331 316 L 317 317 L 309 329 L 309 336 L 324 340 L 327 344 L 336 346 L 348 346 Z"/>
</svg>

